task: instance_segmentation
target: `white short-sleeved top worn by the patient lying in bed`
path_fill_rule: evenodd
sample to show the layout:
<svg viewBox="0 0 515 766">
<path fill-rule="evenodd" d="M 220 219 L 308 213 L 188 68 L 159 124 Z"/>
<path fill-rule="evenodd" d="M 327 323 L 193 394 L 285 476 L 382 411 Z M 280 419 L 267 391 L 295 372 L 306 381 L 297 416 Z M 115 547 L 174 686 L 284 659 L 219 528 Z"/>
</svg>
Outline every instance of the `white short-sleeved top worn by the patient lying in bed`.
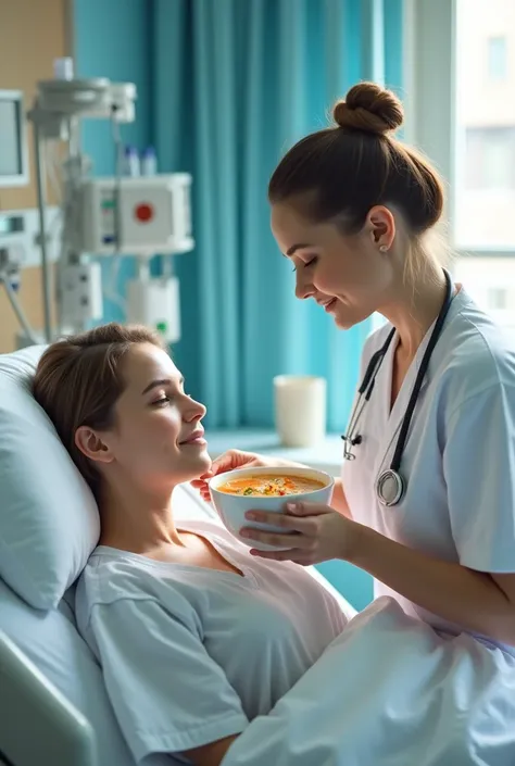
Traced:
<svg viewBox="0 0 515 766">
<path fill-rule="evenodd" d="M 79 631 L 137 762 L 267 715 L 347 624 L 301 566 L 253 557 L 214 523 L 180 528 L 208 538 L 243 576 L 99 547 L 77 587 Z"/>
</svg>

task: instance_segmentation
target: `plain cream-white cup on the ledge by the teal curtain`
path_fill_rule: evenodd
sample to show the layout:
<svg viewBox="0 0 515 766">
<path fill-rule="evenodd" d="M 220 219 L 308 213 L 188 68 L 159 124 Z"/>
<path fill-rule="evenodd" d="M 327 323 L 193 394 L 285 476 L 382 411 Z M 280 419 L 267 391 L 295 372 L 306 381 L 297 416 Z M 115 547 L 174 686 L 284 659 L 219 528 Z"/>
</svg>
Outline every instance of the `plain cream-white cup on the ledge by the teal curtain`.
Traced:
<svg viewBox="0 0 515 766">
<path fill-rule="evenodd" d="M 274 378 L 275 427 L 285 447 L 313 447 L 326 435 L 325 378 L 278 375 Z"/>
</svg>

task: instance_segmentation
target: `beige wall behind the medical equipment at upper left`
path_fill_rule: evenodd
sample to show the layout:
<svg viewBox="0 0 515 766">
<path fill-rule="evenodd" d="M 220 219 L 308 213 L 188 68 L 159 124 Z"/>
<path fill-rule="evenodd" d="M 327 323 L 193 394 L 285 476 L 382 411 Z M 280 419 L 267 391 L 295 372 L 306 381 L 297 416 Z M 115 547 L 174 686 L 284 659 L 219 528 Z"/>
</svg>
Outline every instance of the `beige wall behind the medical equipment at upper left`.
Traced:
<svg viewBox="0 0 515 766">
<path fill-rule="evenodd" d="M 52 76 L 53 60 L 71 51 L 68 0 L 0 0 L 0 89 L 23 90 L 26 106 L 36 83 Z M 28 126 L 30 181 L 26 187 L 0 188 L 0 210 L 36 206 L 32 134 Z M 30 324 L 42 327 L 40 268 L 22 273 L 20 298 Z M 14 348 L 18 324 L 0 289 L 0 353 Z"/>
</svg>

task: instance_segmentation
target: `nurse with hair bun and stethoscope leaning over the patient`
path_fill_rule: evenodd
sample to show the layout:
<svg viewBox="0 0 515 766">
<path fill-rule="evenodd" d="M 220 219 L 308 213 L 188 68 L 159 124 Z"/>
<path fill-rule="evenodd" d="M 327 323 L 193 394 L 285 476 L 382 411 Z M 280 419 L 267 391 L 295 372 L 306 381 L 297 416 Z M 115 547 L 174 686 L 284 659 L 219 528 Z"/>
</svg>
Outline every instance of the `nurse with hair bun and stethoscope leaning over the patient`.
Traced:
<svg viewBox="0 0 515 766">
<path fill-rule="evenodd" d="M 362 83 L 334 117 L 274 172 L 272 228 L 294 267 L 298 298 L 316 301 L 341 329 L 374 312 L 387 323 L 363 351 L 331 506 L 287 506 L 285 535 L 269 535 L 252 523 L 277 525 L 277 516 L 256 503 L 244 533 L 288 548 L 256 556 L 341 558 L 374 577 L 375 603 L 337 639 L 330 661 L 342 674 L 331 701 L 340 713 L 335 763 L 381 766 L 409 752 L 399 763 L 507 766 L 515 763 L 514 348 L 442 267 L 434 236 L 442 183 L 393 137 L 403 120 L 395 96 Z M 212 473 L 271 464 L 230 451 Z M 196 485 L 206 497 L 206 484 Z M 346 673 L 351 692 L 342 689 Z M 316 666 L 301 687 L 310 682 L 325 704 L 330 693 Z M 356 695 L 365 731 L 355 725 Z"/>
</svg>

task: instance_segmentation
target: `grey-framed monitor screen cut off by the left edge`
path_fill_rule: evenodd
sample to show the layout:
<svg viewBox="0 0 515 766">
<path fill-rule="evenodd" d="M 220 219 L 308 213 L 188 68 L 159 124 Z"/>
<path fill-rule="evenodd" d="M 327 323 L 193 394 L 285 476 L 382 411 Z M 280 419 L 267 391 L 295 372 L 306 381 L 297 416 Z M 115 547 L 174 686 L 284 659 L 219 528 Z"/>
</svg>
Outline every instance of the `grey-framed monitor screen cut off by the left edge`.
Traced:
<svg viewBox="0 0 515 766">
<path fill-rule="evenodd" d="M 0 90 L 0 187 L 28 183 L 25 114 L 21 90 Z"/>
</svg>

